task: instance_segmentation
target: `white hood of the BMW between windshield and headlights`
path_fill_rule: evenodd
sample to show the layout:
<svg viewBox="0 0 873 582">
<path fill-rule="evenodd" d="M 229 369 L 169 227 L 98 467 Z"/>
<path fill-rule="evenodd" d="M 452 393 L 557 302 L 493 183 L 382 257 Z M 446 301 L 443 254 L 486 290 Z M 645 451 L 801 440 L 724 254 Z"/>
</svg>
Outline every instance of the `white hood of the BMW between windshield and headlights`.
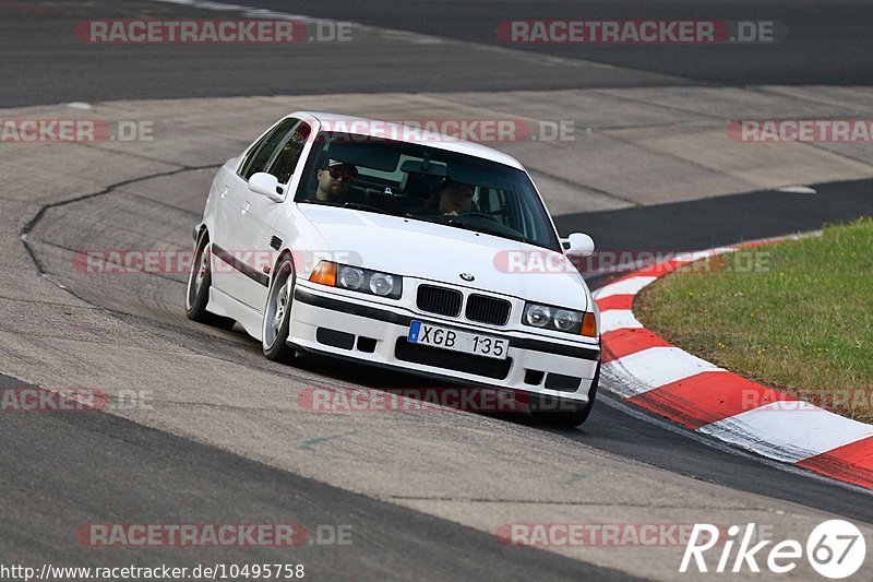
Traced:
<svg viewBox="0 0 873 582">
<path fill-rule="evenodd" d="M 561 252 L 483 233 L 336 206 L 299 204 L 325 250 L 356 266 L 588 309 L 582 275 Z M 462 273 L 475 277 L 466 282 Z"/>
</svg>

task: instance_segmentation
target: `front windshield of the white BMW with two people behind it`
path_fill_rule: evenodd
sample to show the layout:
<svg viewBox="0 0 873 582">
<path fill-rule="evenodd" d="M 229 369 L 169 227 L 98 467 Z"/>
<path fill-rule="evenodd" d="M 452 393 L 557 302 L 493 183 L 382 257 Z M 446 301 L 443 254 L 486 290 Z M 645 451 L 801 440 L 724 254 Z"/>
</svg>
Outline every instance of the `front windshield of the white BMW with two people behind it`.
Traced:
<svg viewBox="0 0 873 582">
<path fill-rule="evenodd" d="M 319 133 L 295 201 L 405 216 L 561 250 L 524 171 L 427 143 Z"/>
</svg>

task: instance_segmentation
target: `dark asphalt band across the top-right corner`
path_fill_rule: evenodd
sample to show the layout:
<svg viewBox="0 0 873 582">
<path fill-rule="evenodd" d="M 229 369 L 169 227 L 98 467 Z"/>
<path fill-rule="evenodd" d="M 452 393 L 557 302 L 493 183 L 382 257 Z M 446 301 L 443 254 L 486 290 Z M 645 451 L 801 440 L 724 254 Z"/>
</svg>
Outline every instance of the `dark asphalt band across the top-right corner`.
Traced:
<svg viewBox="0 0 873 582">
<path fill-rule="evenodd" d="M 253 5 L 288 10 L 282 0 Z M 301 14 L 350 20 L 372 26 L 506 46 L 494 33 L 507 20 L 723 20 L 772 21 L 782 38 L 774 44 L 734 46 L 609 46 L 579 44 L 512 45 L 571 59 L 626 67 L 714 84 L 870 84 L 869 2 L 732 0 L 393 0 L 390 2 L 295 2 Z M 690 49 L 690 50 L 689 50 Z M 599 86 L 601 80 L 577 80 Z M 607 81 L 608 82 L 608 81 Z M 586 83 L 591 83 L 587 85 Z"/>
</svg>

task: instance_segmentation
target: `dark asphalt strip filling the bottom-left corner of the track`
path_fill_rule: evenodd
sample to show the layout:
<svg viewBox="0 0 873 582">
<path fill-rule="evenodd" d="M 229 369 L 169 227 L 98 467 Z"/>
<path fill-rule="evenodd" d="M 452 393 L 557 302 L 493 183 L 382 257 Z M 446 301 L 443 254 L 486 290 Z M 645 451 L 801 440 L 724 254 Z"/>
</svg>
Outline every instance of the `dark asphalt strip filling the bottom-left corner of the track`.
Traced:
<svg viewBox="0 0 873 582">
<path fill-rule="evenodd" d="M 0 376 L 0 388 L 24 385 Z M 318 580 L 350 580 L 362 571 L 373 580 L 617 577 L 542 550 L 519 553 L 493 535 L 108 414 L 7 415 L 2 433 L 5 563 L 302 563 Z M 297 523 L 309 535 L 307 544 L 291 548 L 188 548 L 181 554 L 172 547 L 107 551 L 70 543 L 74 524 L 177 523 L 180 515 L 187 523 Z M 332 535 L 319 534 L 320 524 L 350 526 L 358 534 L 349 545 L 319 545 Z"/>
</svg>

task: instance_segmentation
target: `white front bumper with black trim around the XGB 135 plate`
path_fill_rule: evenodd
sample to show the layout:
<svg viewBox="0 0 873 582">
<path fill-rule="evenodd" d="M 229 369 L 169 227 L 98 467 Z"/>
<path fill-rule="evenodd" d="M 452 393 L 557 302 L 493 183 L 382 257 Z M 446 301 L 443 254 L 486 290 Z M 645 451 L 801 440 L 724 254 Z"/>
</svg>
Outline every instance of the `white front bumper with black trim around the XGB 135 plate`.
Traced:
<svg viewBox="0 0 873 582">
<path fill-rule="evenodd" d="M 301 283 L 298 281 L 295 287 L 291 304 L 288 344 L 294 347 L 453 383 L 588 401 L 600 359 L 599 345 L 548 341 L 518 330 L 494 330 L 467 322 L 446 323 L 424 313 Z M 509 357 L 498 360 L 409 344 L 406 337 L 412 320 L 505 337 L 510 342 Z"/>
</svg>

